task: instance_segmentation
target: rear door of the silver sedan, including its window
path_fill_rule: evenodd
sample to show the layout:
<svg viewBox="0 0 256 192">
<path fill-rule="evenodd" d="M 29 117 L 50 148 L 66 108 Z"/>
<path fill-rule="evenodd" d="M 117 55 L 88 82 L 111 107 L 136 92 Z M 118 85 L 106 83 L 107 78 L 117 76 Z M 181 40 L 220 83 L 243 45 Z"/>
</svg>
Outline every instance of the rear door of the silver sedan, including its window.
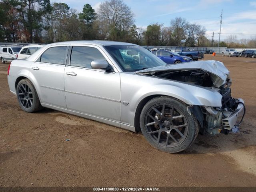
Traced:
<svg viewBox="0 0 256 192">
<path fill-rule="evenodd" d="M 47 48 L 30 67 L 43 104 L 66 108 L 64 70 L 69 45 Z"/>
</svg>

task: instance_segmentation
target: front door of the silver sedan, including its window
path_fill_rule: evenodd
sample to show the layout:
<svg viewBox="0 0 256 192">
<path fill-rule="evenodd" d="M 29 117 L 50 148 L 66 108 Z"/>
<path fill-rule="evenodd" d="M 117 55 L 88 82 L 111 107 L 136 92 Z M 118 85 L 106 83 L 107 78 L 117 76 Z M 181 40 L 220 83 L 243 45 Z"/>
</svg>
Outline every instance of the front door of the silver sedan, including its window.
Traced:
<svg viewBox="0 0 256 192">
<path fill-rule="evenodd" d="M 118 72 L 93 69 L 93 60 L 107 60 L 98 46 L 72 46 L 70 65 L 64 72 L 69 110 L 115 122 L 121 119 L 121 86 Z M 108 61 L 110 62 L 110 61 Z"/>
</svg>

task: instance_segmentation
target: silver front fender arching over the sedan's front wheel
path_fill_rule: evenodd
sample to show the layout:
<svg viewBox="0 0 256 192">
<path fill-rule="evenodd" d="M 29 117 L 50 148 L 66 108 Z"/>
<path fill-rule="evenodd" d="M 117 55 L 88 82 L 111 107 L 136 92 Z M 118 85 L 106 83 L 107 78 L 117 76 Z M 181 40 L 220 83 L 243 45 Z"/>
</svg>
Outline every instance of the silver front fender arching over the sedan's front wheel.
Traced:
<svg viewBox="0 0 256 192">
<path fill-rule="evenodd" d="M 137 107 L 149 96 L 170 96 L 188 105 L 222 106 L 222 95 L 211 88 L 146 75 L 120 73 L 120 77 L 122 101 L 129 103 L 121 106 L 121 122 L 131 126 L 134 126 Z"/>
</svg>

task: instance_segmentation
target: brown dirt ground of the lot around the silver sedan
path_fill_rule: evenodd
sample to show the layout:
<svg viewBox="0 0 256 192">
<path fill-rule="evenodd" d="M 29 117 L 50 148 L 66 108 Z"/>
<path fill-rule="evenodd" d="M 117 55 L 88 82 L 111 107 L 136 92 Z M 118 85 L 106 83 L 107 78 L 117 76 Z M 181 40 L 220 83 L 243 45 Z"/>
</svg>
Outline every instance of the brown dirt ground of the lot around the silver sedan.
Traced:
<svg viewBox="0 0 256 192">
<path fill-rule="evenodd" d="M 230 70 L 244 122 L 236 134 L 199 135 L 179 154 L 78 116 L 23 112 L 0 63 L 0 186 L 256 186 L 256 59 L 205 54 L 212 59 Z"/>
</svg>

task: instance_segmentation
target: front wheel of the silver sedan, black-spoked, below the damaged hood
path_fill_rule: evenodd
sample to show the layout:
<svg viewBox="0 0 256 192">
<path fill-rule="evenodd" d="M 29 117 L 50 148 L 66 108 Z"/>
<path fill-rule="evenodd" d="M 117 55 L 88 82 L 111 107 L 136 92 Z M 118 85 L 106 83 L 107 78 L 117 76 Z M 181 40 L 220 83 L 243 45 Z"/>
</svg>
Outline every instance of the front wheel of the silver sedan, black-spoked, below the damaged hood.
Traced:
<svg viewBox="0 0 256 192">
<path fill-rule="evenodd" d="M 187 107 L 167 96 L 156 97 L 146 103 L 140 114 L 140 128 L 146 140 L 164 152 L 186 150 L 199 132 L 198 122 L 193 114 L 188 113 Z"/>
</svg>

